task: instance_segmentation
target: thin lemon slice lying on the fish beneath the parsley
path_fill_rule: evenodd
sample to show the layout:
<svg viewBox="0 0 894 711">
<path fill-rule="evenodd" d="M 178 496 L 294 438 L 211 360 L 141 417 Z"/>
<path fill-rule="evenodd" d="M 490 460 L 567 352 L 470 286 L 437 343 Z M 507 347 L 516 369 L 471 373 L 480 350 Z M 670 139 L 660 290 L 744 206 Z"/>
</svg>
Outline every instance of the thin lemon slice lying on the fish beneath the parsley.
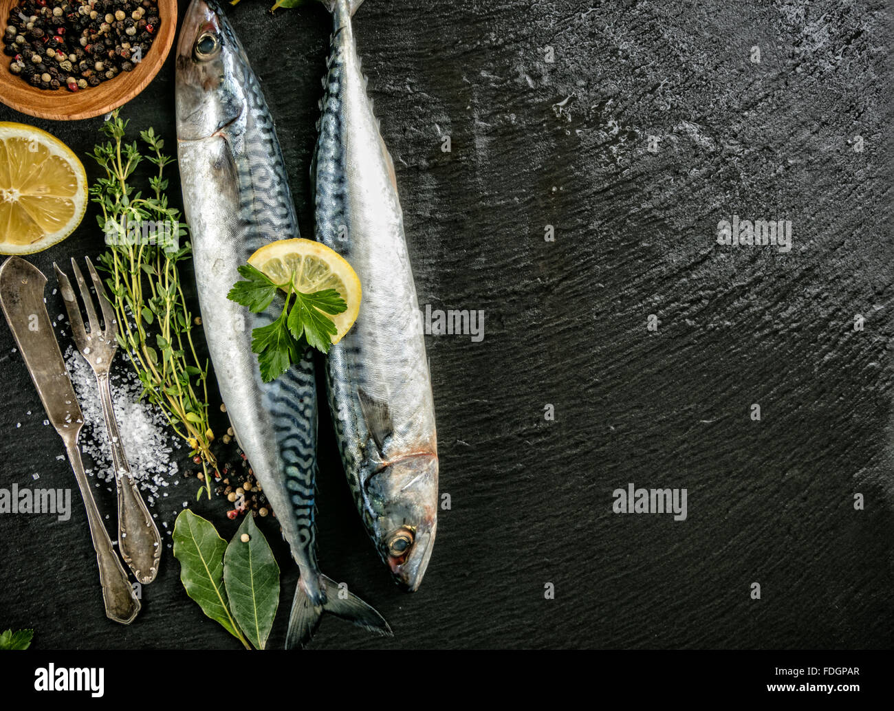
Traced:
<svg viewBox="0 0 894 711">
<path fill-rule="evenodd" d="M 335 250 L 312 240 L 279 240 L 264 245 L 249 258 L 249 264 L 276 284 L 288 284 L 301 293 L 334 289 L 348 308 L 335 314 L 333 322 L 338 343 L 350 331 L 360 310 L 360 280 L 350 264 Z"/>
</svg>

